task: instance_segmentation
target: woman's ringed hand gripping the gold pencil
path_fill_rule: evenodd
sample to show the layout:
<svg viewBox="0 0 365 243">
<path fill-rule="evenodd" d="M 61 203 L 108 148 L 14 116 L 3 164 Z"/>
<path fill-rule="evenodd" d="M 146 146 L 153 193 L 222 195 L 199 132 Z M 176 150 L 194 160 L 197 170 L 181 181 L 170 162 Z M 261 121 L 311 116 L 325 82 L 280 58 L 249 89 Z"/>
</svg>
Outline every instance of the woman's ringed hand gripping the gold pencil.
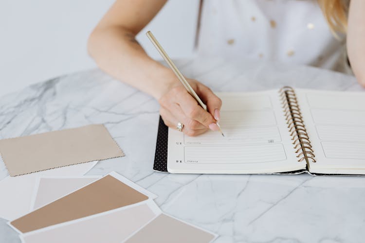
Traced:
<svg viewBox="0 0 365 243">
<path fill-rule="evenodd" d="M 208 129 L 219 131 L 216 122 L 219 121 L 222 101 L 205 85 L 192 79 L 187 81 L 202 102 L 207 105 L 208 112 L 198 104 L 182 84 L 176 82 L 176 85 L 170 87 L 159 99 L 160 114 L 164 123 L 173 129 L 177 129 L 178 122 L 183 123 L 183 133 L 188 136 L 200 135 Z"/>
</svg>

